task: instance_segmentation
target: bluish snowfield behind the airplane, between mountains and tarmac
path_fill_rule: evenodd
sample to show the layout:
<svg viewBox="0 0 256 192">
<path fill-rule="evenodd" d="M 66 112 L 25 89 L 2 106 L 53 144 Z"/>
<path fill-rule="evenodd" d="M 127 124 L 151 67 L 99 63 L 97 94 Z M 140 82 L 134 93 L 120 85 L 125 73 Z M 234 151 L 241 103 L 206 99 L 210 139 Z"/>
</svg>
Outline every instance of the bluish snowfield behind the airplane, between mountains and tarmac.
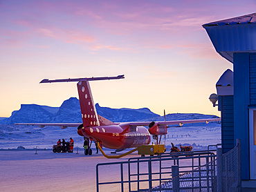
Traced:
<svg viewBox="0 0 256 192">
<path fill-rule="evenodd" d="M 49 149 L 57 140 L 68 141 L 70 137 L 75 141 L 75 149 L 82 148 L 84 140 L 77 135 L 76 128 L 73 127 L 61 129 L 56 126 L 39 128 L 0 124 L 0 149 L 17 149 L 19 146 L 24 146 L 26 149 L 36 147 Z M 210 144 L 221 143 L 221 126 L 217 123 L 172 126 L 168 128 L 168 134 L 162 137 L 161 141 L 165 142 L 168 149 L 171 142 L 175 145 L 196 144 L 197 147 L 194 145 L 194 149 L 205 149 Z"/>
</svg>

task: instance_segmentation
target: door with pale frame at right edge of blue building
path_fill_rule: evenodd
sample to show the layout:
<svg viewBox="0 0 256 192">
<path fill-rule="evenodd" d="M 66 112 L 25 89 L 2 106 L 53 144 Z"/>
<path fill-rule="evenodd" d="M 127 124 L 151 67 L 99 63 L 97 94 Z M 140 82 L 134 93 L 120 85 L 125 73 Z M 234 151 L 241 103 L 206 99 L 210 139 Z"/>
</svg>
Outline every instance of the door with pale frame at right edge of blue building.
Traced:
<svg viewBox="0 0 256 192">
<path fill-rule="evenodd" d="M 250 180 L 256 180 L 256 108 L 249 109 Z"/>
</svg>

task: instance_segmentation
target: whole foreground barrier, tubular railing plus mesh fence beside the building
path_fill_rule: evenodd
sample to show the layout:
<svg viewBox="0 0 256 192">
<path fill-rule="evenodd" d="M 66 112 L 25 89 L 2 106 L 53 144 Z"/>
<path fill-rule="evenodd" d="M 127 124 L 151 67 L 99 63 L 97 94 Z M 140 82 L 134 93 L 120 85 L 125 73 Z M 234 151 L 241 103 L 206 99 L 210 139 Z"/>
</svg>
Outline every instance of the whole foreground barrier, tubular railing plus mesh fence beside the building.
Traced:
<svg viewBox="0 0 256 192">
<path fill-rule="evenodd" d="M 217 146 L 217 155 L 213 150 L 191 151 L 98 164 L 97 191 L 100 186 L 115 184 L 120 187 L 118 191 L 241 191 L 239 140 L 237 146 L 225 154 Z M 119 174 L 120 180 L 115 176 L 115 179 L 109 177 L 102 181 L 99 170 L 105 169 Z"/>
</svg>

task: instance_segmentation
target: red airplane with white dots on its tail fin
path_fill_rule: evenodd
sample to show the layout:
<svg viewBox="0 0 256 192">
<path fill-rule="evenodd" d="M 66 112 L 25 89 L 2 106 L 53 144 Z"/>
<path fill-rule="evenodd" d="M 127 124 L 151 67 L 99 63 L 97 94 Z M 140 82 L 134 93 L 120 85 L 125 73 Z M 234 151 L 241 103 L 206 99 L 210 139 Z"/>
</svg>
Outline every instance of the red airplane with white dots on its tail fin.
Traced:
<svg viewBox="0 0 256 192">
<path fill-rule="evenodd" d="M 156 144 L 160 144 L 158 136 L 167 134 L 167 125 L 191 124 L 200 122 L 219 122 L 220 119 L 192 119 L 192 120 L 178 120 L 178 121 L 162 121 L 162 122 L 122 122 L 114 123 L 108 119 L 97 114 L 93 102 L 93 95 L 89 81 L 110 80 L 110 79 L 124 79 L 124 75 L 116 77 L 91 77 L 79 79 L 44 79 L 40 83 L 53 82 L 68 82 L 78 81 L 77 90 L 80 99 L 80 107 L 82 113 L 82 124 L 80 123 L 24 123 L 25 125 L 39 125 L 44 126 L 61 126 L 66 128 L 68 126 L 77 127 L 77 133 L 84 137 L 84 140 L 91 140 L 91 142 L 100 142 L 106 148 L 116 149 L 122 151 L 125 148 L 136 148 L 151 142 L 151 135 L 156 140 Z M 145 128 L 148 126 L 149 128 Z M 91 155 L 92 150 L 86 149 L 85 154 Z"/>
</svg>

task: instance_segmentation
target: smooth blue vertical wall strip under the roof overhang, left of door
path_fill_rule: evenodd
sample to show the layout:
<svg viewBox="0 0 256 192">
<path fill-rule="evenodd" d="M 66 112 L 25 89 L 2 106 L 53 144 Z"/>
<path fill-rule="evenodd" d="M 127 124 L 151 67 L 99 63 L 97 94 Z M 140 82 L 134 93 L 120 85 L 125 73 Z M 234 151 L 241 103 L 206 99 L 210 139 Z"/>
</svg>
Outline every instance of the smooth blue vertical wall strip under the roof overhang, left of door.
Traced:
<svg viewBox="0 0 256 192">
<path fill-rule="evenodd" d="M 250 179 L 249 122 L 250 61 L 248 52 L 234 53 L 234 142 L 241 140 L 241 179 Z"/>
</svg>

